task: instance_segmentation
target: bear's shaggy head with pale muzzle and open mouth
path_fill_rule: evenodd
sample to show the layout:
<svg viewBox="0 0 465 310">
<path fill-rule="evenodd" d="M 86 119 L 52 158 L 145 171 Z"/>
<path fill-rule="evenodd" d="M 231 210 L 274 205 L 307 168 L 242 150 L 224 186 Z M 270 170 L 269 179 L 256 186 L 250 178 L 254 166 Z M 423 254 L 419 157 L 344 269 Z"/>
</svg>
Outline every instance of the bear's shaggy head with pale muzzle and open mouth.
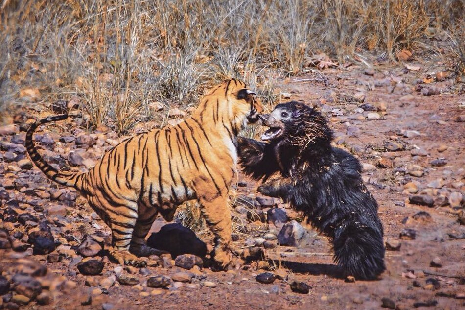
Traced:
<svg viewBox="0 0 465 310">
<path fill-rule="evenodd" d="M 261 140 L 300 148 L 326 148 L 332 131 L 320 112 L 302 102 L 278 104 L 270 114 L 261 115 L 263 125 L 270 127 Z"/>
</svg>

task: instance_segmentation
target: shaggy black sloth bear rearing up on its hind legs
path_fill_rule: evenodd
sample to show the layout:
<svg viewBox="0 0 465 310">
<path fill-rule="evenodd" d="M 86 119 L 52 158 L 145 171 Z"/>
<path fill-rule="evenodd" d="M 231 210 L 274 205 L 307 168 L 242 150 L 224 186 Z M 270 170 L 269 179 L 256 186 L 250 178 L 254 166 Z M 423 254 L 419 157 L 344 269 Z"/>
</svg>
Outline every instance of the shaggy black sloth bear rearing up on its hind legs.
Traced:
<svg viewBox="0 0 465 310">
<path fill-rule="evenodd" d="M 265 182 L 257 190 L 290 202 L 328 236 L 346 276 L 376 279 L 385 270 L 383 227 L 358 160 L 331 146 L 326 119 L 303 103 L 279 104 L 261 120 L 270 127 L 261 140 L 269 143 L 237 141 L 244 172 Z M 281 177 L 266 182 L 278 171 Z"/>
</svg>

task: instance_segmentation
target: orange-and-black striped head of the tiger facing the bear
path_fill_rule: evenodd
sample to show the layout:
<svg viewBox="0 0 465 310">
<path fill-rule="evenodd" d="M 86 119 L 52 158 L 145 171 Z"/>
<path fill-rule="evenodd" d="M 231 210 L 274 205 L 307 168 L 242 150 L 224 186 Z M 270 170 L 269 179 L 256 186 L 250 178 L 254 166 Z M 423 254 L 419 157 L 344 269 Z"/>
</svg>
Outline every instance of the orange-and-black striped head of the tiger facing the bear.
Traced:
<svg viewBox="0 0 465 310">
<path fill-rule="evenodd" d="M 245 125 L 259 119 L 263 105 L 244 82 L 226 79 L 202 99 L 197 112 L 203 120 L 208 116 L 215 124 L 228 123 L 237 134 Z"/>
</svg>

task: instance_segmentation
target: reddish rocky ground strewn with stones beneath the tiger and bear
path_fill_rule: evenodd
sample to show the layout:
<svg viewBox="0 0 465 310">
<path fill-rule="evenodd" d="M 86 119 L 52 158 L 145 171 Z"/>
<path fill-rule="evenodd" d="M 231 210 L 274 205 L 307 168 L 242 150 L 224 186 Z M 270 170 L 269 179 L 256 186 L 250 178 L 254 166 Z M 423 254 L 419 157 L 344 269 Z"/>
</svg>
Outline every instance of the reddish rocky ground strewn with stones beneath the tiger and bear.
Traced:
<svg viewBox="0 0 465 310">
<path fill-rule="evenodd" d="M 146 268 L 109 261 L 104 223 L 75 191 L 49 182 L 23 146 L 29 123 L 79 104 L 74 98 L 24 110 L 0 128 L 0 309 L 463 309 L 464 79 L 434 59 L 408 67 L 350 66 L 280 82 L 283 97 L 318 106 L 335 144 L 363 163 L 385 231 L 380 280 L 342 278 L 328 240 L 242 175 L 232 189 L 230 270 L 175 257 L 176 242 L 158 243 L 173 255 L 152 256 Z M 36 134 L 48 162 L 85 169 L 122 139 L 105 127 L 86 132 L 84 120 Z M 199 256 L 211 249 L 208 233 L 199 234 L 205 246 L 179 225 L 163 227 L 152 242 L 175 235 Z"/>
</svg>

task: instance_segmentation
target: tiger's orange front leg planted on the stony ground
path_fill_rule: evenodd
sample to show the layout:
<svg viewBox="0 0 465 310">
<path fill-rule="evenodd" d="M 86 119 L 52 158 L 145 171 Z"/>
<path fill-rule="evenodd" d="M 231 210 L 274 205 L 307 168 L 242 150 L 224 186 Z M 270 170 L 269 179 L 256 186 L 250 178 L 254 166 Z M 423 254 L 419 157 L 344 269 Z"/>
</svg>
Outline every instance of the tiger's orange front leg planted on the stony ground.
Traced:
<svg viewBox="0 0 465 310">
<path fill-rule="evenodd" d="M 196 192 L 200 211 L 213 234 L 215 248 L 212 258 L 216 267 L 225 269 L 230 262 L 229 245 L 231 242 L 231 211 L 228 205 L 227 189 L 217 191 L 212 182 L 196 183 Z"/>
</svg>

